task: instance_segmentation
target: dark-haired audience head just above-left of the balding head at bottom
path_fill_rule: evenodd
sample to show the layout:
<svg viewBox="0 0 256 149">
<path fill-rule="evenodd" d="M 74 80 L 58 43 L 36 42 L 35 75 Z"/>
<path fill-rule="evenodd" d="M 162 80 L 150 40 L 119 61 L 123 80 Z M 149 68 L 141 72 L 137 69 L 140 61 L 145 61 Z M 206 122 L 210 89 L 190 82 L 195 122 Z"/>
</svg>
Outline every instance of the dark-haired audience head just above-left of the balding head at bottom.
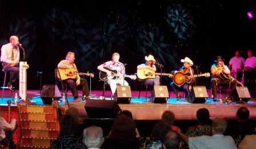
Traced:
<svg viewBox="0 0 256 149">
<path fill-rule="evenodd" d="M 171 130 L 170 125 L 166 122 L 159 121 L 154 125 L 151 135 L 154 140 L 162 140 L 165 133 L 169 130 Z"/>
</svg>

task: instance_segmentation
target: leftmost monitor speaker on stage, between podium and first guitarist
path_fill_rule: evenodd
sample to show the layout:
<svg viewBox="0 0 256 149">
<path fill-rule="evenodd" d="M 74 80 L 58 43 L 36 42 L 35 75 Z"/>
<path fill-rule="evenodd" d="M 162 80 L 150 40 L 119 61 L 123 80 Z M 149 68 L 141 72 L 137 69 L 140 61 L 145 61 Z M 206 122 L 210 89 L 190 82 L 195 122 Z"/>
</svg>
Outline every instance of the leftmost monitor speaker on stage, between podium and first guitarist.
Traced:
<svg viewBox="0 0 256 149">
<path fill-rule="evenodd" d="M 57 85 L 43 85 L 41 92 L 41 99 L 43 101 L 43 104 L 50 105 L 53 100 L 59 100 L 59 98 L 61 97 L 61 92 L 59 92 Z"/>
</svg>

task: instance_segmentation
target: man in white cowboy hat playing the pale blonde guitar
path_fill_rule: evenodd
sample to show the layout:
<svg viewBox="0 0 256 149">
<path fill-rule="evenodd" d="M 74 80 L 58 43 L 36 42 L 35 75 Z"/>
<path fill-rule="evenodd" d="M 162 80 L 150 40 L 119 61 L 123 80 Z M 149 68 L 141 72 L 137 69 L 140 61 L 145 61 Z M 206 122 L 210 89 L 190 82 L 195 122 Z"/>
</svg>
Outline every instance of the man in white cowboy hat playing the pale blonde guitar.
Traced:
<svg viewBox="0 0 256 149">
<path fill-rule="evenodd" d="M 155 67 L 155 59 L 153 55 L 145 56 L 146 64 L 140 64 L 137 66 L 137 69 L 149 69 L 150 71 L 156 72 L 157 67 Z M 155 75 L 153 78 L 147 78 L 144 82 L 145 85 L 160 85 L 160 77 L 158 75 Z"/>
</svg>

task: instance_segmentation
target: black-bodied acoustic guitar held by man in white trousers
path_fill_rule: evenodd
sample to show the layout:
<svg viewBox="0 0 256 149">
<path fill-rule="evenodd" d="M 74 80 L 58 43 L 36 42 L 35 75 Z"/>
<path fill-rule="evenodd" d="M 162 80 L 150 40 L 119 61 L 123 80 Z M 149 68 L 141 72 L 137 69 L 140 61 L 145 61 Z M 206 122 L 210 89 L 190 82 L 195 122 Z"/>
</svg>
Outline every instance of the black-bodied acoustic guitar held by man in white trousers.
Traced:
<svg viewBox="0 0 256 149">
<path fill-rule="evenodd" d="M 106 72 L 102 72 L 102 71 L 99 72 L 99 79 L 101 79 L 103 81 L 104 80 L 106 81 L 106 80 L 109 80 L 109 79 L 116 80 L 117 78 L 125 78 L 125 77 L 129 77 L 132 80 L 135 80 L 137 78 L 135 75 L 126 75 L 126 74 L 120 75 L 120 74 L 117 73 L 116 70 L 111 70 L 111 69 L 109 69 L 107 67 L 103 67 L 103 68 L 111 72 L 110 76 L 107 75 Z"/>
</svg>

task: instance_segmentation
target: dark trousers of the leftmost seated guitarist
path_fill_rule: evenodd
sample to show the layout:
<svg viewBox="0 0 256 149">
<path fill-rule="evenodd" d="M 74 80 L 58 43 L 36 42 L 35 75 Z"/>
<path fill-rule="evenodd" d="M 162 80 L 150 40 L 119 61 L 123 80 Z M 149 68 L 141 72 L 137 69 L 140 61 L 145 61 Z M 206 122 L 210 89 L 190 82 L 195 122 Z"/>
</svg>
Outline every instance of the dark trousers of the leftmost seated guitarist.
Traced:
<svg viewBox="0 0 256 149">
<path fill-rule="evenodd" d="M 78 97 L 78 86 L 75 82 L 76 82 L 76 80 L 72 79 L 72 78 L 63 80 L 63 83 L 67 84 L 67 86 L 70 89 L 71 93 L 73 94 L 74 98 L 77 98 Z M 87 80 L 80 78 L 79 86 L 82 86 L 83 96 L 89 96 L 89 88 L 88 88 Z"/>
</svg>

